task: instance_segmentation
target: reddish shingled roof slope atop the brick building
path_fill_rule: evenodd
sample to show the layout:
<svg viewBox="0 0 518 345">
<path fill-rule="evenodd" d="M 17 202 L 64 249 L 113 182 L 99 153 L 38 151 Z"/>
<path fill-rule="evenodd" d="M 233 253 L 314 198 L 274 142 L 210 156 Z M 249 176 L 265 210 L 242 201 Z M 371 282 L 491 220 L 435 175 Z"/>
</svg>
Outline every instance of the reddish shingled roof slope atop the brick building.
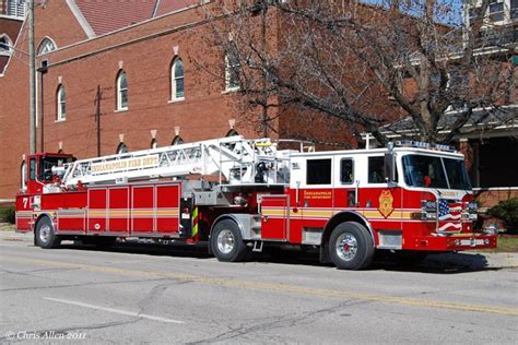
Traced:
<svg viewBox="0 0 518 345">
<path fill-rule="evenodd" d="M 75 0 L 95 35 L 200 3 L 199 0 Z"/>
</svg>

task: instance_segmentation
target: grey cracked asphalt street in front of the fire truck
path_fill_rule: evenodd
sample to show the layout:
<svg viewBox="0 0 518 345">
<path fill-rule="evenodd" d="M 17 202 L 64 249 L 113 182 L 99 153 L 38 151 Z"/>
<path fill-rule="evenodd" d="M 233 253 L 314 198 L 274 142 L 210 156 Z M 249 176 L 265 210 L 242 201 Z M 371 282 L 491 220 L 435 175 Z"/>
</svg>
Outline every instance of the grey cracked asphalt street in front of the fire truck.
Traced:
<svg viewBox="0 0 518 345">
<path fill-rule="evenodd" d="M 310 253 L 221 263 L 193 247 L 44 250 L 0 231 L 0 343 L 517 344 L 516 254 L 339 271 Z M 67 341 L 68 340 L 68 341 Z"/>
</svg>

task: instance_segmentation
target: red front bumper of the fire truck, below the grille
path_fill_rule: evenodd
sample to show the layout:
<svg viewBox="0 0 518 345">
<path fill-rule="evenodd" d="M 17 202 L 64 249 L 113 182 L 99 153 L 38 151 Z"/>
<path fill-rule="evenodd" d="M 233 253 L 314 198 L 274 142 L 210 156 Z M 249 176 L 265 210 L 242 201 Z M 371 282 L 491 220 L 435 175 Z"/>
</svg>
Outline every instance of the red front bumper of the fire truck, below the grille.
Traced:
<svg viewBox="0 0 518 345">
<path fill-rule="evenodd" d="M 428 251 L 454 251 L 496 248 L 496 235 L 493 234 L 452 234 L 445 236 L 412 237 L 404 249 Z"/>
</svg>

